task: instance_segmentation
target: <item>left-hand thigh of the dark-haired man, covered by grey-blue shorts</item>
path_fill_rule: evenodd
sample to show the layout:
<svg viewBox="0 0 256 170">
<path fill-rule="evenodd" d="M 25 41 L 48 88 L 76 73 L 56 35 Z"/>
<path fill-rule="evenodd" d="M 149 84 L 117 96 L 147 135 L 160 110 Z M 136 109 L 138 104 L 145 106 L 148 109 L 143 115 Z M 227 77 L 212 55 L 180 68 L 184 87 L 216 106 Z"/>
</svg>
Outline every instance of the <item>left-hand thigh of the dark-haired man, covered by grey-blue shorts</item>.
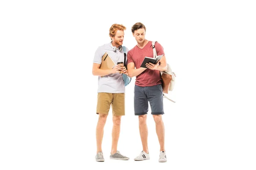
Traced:
<svg viewBox="0 0 256 170">
<path fill-rule="evenodd" d="M 148 99 L 145 87 L 135 85 L 134 87 L 134 114 L 144 115 L 148 113 Z"/>
</svg>

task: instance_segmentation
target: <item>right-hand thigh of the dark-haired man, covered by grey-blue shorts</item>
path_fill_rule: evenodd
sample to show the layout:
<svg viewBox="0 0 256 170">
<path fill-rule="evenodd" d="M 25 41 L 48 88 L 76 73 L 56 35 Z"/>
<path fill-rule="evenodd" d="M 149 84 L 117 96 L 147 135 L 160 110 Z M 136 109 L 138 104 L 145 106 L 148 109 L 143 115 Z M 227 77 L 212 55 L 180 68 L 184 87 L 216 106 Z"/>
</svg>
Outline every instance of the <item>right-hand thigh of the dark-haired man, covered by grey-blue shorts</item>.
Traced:
<svg viewBox="0 0 256 170">
<path fill-rule="evenodd" d="M 148 87 L 148 101 L 151 114 L 164 114 L 163 112 L 163 88 L 162 85 Z"/>
</svg>

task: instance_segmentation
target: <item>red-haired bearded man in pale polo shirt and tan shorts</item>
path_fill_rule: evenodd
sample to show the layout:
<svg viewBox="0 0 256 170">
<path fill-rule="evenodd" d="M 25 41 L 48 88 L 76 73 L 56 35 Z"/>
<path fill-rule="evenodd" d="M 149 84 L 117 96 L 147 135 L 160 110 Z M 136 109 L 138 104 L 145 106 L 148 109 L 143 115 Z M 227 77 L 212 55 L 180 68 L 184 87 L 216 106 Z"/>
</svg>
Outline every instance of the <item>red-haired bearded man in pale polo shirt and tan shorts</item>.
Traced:
<svg viewBox="0 0 256 170">
<path fill-rule="evenodd" d="M 112 105 L 113 111 L 113 129 L 112 129 L 112 148 L 110 159 L 128 160 L 117 150 L 117 143 L 120 134 L 121 116 L 125 115 L 125 85 L 122 74 L 128 75 L 125 67 L 115 65 L 113 69 L 102 70 L 100 65 L 102 56 L 105 52 L 113 59 L 115 63 L 124 62 L 124 51 L 122 44 L 124 40 L 125 26 L 113 24 L 109 29 L 111 42 L 100 46 L 93 59 L 93 75 L 98 78 L 98 103 L 96 113 L 99 114 L 99 120 L 96 127 L 97 154 L 96 161 L 105 161 L 102 153 L 103 129 L 108 116 L 108 111 Z M 127 50 L 128 51 L 128 50 Z M 101 77 L 104 76 L 104 77 Z"/>
</svg>

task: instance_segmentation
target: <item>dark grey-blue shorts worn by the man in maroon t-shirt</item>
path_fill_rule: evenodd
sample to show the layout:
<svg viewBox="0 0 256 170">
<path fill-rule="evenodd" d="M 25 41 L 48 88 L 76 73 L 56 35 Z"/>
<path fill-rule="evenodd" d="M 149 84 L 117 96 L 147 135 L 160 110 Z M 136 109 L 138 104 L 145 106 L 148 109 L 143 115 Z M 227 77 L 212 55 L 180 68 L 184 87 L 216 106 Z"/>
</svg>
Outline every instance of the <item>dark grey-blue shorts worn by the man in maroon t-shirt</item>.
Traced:
<svg viewBox="0 0 256 170">
<path fill-rule="evenodd" d="M 164 114 L 163 112 L 163 88 L 162 85 L 150 87 L 134 87 L 134 114 L 144 115 L 148 113 L 148 102 L 151 114 Z"/>
</svg>

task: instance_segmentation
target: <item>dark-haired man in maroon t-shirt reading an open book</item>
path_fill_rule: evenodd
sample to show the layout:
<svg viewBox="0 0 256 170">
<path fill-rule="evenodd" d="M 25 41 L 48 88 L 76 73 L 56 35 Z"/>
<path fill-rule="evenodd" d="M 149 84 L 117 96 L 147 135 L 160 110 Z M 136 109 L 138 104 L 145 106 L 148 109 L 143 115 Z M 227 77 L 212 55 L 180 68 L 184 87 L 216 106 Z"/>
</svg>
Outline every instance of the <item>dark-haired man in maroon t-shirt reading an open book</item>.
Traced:
<svg viewBox="0 0 256 170">
<path fill-rule="evenodd" d="M 164 125 L 162 120 L 162 114 L 164 114 L 163 88 L 160 75 L 160 71 L 167 70 L 166 57 L 163 47 L 156 42 L 155 48 L 157 55 L 163 54 L 163 57 L 156 64 L 147 63 L 147 68 L 140 67 L 145 57 L 153 58 L 152 41 L 145 39 L 146 28 L 142 23 L 135 23 L 132 26 L 131 31 L 137 41 L 137 45 L 128 51 L 127 70 L 129 71 L 130 77 L 136 76 L 134 87 L 134 113 L 139 116 L 140 138 L 143 145 L 143 151 L 134 160 L 141 161 L 150 159 L 148 153 L 148 127 L 146 124 L 149 102 L 160 143 L 159 161 L 166 162 Z"/>
</svg>

